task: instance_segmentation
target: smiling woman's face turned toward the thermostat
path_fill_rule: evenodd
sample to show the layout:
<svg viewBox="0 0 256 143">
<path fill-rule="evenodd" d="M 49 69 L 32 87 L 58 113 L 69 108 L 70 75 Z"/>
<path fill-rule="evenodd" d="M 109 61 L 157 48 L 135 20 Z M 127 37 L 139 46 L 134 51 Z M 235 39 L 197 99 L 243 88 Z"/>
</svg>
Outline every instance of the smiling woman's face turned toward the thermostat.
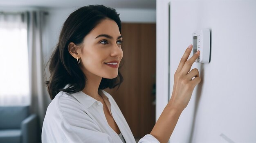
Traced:
<svg viewBox="0 0 256 143">
<path fill-rule="evenodd" d="M 123 58 L 122 37 L 114 20 L 102 20 L 83 39 L 79 56 L 85 76 L 116 78 Z"/>
</svg>

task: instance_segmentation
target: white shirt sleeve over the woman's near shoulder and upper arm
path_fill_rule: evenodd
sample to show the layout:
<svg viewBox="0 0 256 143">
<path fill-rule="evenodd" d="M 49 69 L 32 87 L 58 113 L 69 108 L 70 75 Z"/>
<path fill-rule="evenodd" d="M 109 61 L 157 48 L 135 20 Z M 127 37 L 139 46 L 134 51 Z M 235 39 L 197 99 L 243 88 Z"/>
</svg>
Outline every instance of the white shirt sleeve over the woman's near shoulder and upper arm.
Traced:
<svg viewBox="0 0 256 143">
<path fill-rule="evenodd" d="M 55 98 L 58 98 L 55 100 Z M 47 108 L 42 143 L 106 143 L 111 137 L 69 95 L 55 97 Z"/>
</svg>

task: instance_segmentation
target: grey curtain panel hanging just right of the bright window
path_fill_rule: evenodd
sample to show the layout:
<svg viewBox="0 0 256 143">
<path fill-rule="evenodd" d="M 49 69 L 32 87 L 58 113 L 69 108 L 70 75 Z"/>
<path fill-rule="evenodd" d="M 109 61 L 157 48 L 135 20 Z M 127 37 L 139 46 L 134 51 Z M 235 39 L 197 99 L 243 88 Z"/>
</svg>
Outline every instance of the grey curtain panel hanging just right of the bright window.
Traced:
<svg viewBox="0 0 256 143">
<path fill-rule="evenodd" d="M 28 11 L 28 55 L 29 55 L 29 89 L 31 113 L 39 117 L 40 131 L 43 125 L 46 109 L 49 104 L 49 94 L 45 87 L 44 67 L 47 47 L 46 20 L 47 13 L 43 11 Z M 41 132 L 40 132 L 41 133 Z M 39 136 L 41 137 L 41 136 Z"/>
</svg>

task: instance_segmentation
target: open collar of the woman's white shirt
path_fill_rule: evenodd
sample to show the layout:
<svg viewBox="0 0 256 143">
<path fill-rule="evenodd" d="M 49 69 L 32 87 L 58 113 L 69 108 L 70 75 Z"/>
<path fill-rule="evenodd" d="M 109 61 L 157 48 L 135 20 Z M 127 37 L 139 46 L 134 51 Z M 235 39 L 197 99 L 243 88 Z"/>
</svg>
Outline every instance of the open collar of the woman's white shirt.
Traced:
<svg viewBox="0 0 256 143">
<path fill-rule="evenodd" d="M 100 89 L 100 95 L 102 95 L 103 98 L 108 99 L 108 94 L 106 94 L 106 91 L 103 91 Z M 76 100 L 78 100 L 81 104 L 83 104 L 86 108 L 89 108 L 94 104 L 94 102 L 98 102 L 98 100 L 92 98 L 91 96 L 83 93 L 83 91 L 79 91 L 76 93 L 71 93 Z"/>
</svg>

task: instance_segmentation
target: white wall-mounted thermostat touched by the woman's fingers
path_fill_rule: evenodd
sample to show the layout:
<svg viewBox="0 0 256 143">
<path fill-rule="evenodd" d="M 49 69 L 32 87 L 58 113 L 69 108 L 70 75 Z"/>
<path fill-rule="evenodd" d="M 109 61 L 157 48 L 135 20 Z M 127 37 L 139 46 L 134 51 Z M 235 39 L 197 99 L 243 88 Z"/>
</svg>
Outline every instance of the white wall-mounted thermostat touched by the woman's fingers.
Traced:
<svg viewBox="0 0 256 143">
<path fill-rule="evenodd" d="M 191 51 L 191 56 L 195 54 L 198 50 L 200 51 L 200 56 L 195 62 L 198 63 L 209 63 L 210 62 L 210 30 L 202 29 L 196 30 L 192 34 L 192 45 L 193 50 Z"/>
</svg>

